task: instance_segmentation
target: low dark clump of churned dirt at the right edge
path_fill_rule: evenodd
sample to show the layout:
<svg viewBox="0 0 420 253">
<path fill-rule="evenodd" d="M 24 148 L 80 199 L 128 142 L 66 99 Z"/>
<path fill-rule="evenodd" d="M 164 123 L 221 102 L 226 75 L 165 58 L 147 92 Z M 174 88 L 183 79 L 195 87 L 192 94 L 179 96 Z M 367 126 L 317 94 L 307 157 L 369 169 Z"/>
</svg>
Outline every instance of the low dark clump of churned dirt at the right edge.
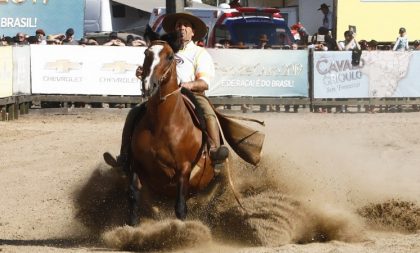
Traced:
<svg viewBox="0 0 420 253">
<path fill-rule="evenodd" d="M 391 199 L 383 203 L 371 203 L 358 213 L 374 228 L 400 232 L 420 230 L 420 207 L 409 201 Z"/>
</svg>

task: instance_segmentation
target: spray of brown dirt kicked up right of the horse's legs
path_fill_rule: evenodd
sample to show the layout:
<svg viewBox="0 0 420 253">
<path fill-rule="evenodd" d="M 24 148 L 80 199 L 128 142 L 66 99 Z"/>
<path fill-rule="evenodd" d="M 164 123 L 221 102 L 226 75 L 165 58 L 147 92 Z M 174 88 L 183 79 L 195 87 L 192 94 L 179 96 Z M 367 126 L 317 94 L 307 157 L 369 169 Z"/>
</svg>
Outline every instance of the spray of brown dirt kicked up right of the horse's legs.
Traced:
<svg viewBox="0 0 420 253">
<path fill-rule="evenodd" d="M 227 196 L 212 202 L 217 208 L 211 226 L 220 238 L 270 247 L 364 239 L 358 217 L 324 203 L 314 205 L 302 201 L 284 190 L 285 182 L 276 171 L 262 165 L 258 170 L 242 171 L 241 177 L 237 177 L 245 210 Z"/>
</svg>

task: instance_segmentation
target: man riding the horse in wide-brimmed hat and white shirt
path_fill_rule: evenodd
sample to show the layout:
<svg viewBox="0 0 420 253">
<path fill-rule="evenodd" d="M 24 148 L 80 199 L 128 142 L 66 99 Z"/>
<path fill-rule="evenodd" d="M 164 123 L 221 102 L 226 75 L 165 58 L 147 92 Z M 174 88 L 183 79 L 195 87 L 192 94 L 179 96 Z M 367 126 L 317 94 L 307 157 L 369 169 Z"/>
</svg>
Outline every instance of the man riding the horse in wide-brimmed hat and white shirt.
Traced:
<svg viewBox="0 0 420 253">
<path fill-rule="evenodd" d="M 179 46 L 179 51 L 176 52 L 178 49 L 174 51 L 176 52 L 179 85 L 190 90 L 202 107 L 210 146 L 210 158 L 213 165 L 221 164 L 228 157 L 229 150 L 226 146 L 220 144 L 221 138 L 216 113 L 207 98 L 204 97 L 204 92 L 209 89 L 215 73 L 214 63 L 206 49 L 194 43 L 206 35 L 207 27 L 200 18 L 188 12 L 167 14 L 162 21 L 162 27 L 167 34 L 176 34 L 178 40 L 176 44 Z M 136 75 L 139 75 L 139 73 L 136 72 Z M 117 157 L 116 166 L 127 166 L 130 136 L 135 123 L 135 120 L 129 119 L 130 117 L 134 116 L 127 116 L 122 136 L 121 153 Z M 107 161 L 106 154 L 104 154 L 105 161 Z"/>
</svg>

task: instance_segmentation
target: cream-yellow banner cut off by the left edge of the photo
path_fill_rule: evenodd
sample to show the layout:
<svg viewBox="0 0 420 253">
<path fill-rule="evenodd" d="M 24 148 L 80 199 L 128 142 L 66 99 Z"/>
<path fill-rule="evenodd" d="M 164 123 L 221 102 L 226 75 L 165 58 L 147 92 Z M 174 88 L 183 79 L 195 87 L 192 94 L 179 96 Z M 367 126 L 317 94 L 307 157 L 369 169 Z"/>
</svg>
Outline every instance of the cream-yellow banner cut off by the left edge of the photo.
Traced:
<svg viewBox="0 0 420 253">
<path fill-rule="evenodd" d="M 0 98 L 13 94 L 13 51 L 12 47 L 0 47 Z"/>
</svg>

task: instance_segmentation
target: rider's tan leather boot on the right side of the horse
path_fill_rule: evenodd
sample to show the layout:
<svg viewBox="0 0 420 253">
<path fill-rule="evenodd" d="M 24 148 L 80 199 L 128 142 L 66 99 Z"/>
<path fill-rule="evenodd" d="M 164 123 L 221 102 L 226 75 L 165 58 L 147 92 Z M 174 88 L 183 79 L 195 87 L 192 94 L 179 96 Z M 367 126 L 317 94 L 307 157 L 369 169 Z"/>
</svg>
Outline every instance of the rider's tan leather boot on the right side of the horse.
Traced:
<svg viewBox="0 0 420 253">
<path fill-rule="evenodd" d="M 229 156 L 229 149 L 224 145 L 220 145 L 220 132 L 217 119 L 215 117 L 206 117 L 206 125 L 210 144 L 210 159 L 214 164 L 223 163 Z"/>
</svg>

